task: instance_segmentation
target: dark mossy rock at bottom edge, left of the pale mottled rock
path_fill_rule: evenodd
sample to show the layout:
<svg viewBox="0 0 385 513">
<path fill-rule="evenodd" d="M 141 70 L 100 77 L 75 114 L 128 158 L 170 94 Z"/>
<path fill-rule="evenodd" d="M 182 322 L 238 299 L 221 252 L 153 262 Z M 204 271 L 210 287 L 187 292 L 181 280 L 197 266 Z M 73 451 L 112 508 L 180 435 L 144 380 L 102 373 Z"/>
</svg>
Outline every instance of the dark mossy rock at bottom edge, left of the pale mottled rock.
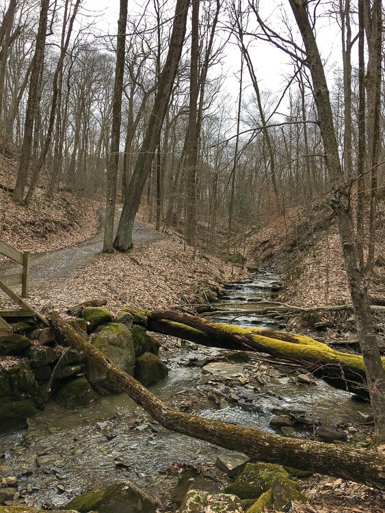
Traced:
<svg viewBox="0 0 385 513">
<path fill-rule="evenodd" d="M 135 484 L 116 482 L 103 490 L 84 493 L 72 499 L 66 508 L 88 513 L 155 513 L 155 501 Z"/>
</svg>

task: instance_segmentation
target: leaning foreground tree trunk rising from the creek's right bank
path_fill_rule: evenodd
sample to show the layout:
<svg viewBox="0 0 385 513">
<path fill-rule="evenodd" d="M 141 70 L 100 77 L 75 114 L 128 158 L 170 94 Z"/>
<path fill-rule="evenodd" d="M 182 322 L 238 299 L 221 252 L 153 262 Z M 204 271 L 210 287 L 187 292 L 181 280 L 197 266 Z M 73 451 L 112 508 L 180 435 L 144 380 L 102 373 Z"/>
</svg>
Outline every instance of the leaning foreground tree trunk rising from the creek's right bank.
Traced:
<svg viewBox="0 0 385 513">
<path fill-rule="evenodd" d="M 367 371 L 369 395 L 375 419 L 375 440 L 382 442 L 385 440 L 385 373 L 375 337 L 364 273 L 360 267 L 349 189 L 345 185 L 341 168 L 328 83 L 313 28 L 308 17 L 308 2 L 304 0 L 289 0 L 289 3 L 297 26 L 302 34 L 306 58 L 312 76 L 319 128 L 321 129 L 326 163 L 332 184 L 332 200 L 330 204 L 338 224 L 347 278 L 349 280 L 351 302 L 356 315 L 358 339 Z"/>
</svg>

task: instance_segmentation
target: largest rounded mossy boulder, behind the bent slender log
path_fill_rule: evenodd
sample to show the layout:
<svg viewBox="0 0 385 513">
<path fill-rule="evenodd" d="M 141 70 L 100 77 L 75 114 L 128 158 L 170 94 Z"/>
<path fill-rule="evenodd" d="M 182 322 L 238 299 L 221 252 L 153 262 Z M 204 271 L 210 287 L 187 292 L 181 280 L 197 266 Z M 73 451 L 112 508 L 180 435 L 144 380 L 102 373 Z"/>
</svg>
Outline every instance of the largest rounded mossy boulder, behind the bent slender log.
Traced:
<svg viewBox="0 0 385 513">
<path fill-rule="evenodd" d="M 111 322 L 99 326 L 91 339 L 91 343 L 123 371 L 133 376 L 135 368 L 135 350 L 129 329 L 124 324 Z M 119 393 L 121 390 L 94 363 L 87 361 L 85 373 L 92 387 L 101 394 Z"/>
</svg>

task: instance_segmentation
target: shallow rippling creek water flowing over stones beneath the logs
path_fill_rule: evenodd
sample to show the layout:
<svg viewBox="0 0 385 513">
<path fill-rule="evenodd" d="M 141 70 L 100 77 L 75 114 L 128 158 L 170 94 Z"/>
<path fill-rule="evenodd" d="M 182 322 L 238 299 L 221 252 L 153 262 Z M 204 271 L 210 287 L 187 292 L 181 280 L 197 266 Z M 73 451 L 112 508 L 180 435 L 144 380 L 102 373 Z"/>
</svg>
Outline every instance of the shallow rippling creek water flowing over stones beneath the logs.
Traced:
<svg viewBox="0 0 385 513">
<path fill-rule="evenodd" d="M 250 282 L 229 284 L 218 303 L 221 313 L 213 314 L 213 319 L 239 326 L 282 328 L 274 319 L 255 313 L 256 303 L 271 298 L 278 283 L 276 274 L 261 272 Z M 224 353 L 192 344 L 163 351 L 161 358 L 170 373 L 152 391 L 196 415 L 269 432 L 274 432 L 269 426 L 274 408 L 301 410 L 332 426 L 358 423 L 360 412 L 369 413 L 367 404 L 354 402 L 348 393 L 324 382 L 298 384 L 295 367 L 279 363 L 271 367 L 268 356 L 245 365 L 249 384 L 244 386 L 239 380 L 242 371 L 230 380 L 215 379 L 192 365 Z M 265 372 L 268 379 L 261 378 Z M 260 376 L 258 386 L 254 386 L 254 373 Z M 207 399 L 210 390 L 223 396 L 232 391 L 237 399 L 223 401 L 218 407 Z M 298 436 L 305 434 L 299 432 Z M 173 462 L 212 465 L 222 452 L 225 449 L 161 428 L 124 394 L 103 397 L 81 410 L 62 410 L 52 402 L 31 421 L 28 430 L 0 437 L 2 474 L 18 475 L 19 488 L 32 503 L 49 501 L 57 507 L 85 489 L 107 486 L 117 479 L 130 479 L 161 495 L 170 485 L 164 469 Z"/>
</svg>

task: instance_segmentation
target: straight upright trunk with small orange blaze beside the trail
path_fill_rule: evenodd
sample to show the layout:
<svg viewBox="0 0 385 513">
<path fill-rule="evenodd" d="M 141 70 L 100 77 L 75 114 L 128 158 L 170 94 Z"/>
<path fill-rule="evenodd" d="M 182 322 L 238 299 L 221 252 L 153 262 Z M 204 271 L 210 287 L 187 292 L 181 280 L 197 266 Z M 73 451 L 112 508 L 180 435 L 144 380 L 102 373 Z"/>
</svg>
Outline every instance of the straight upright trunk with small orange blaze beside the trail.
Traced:
<svg viewBox="0 0 385 513">
<path fill-rule="evenodd" d="M 111 253 L 114 243 L 114 220 L 116 205 L 116 188 L 118 185 L 120 124 L 122 122 L 122 92 L 124 77 L 124 57 L 126 54 L 128 0 L 120 0 L 118 36 L 116 45 L 116 69 L 114 86 L 114 103 L 112 107 L 111 145 L 107 170 L 107 200 L 105 204 L 105 228 L 103 252 Z"/>
</svg>

